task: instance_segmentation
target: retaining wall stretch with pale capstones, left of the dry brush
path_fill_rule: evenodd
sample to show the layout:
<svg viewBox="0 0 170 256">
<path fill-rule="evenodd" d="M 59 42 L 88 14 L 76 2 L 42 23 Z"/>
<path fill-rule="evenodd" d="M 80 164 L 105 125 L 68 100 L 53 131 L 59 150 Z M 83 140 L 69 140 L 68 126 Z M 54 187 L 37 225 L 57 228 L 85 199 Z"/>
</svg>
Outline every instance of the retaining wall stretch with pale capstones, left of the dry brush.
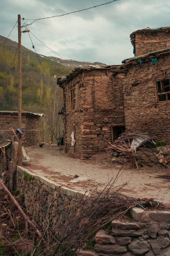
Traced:
<svg viewBox="0 0 170 256">
<path fill-rule="evenodd" d="M 24 195 L 24 204 L 30 214 L 38 214 L 43 221 L 48 213 L 49 221 L 55 224 L 61 217 L 64 222 L 72 209 L 69 205 L 74 205 L 83 196 L 83 192 L 61 186 L 20 166 L 17 167 L 15 189 Z"/>
</svg>

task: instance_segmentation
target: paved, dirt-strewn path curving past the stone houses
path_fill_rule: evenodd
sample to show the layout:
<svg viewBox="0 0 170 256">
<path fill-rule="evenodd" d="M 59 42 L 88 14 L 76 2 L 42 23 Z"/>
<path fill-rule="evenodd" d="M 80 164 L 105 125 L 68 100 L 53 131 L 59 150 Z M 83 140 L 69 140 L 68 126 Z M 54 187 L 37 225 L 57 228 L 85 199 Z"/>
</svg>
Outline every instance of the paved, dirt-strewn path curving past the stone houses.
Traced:
<svg viewBox="0 0 170 256">
<path fill-rule="evenodd" d="M 28 170 L 55 180 L 57 183 L 69 188 L 94 190 L 104 188 L 109 181 L 116 179 L 115 187 L 122 186 L 122 194 L 132 197 L 148 197 L 160 202 L 170 204 L 170 173 L 164 167 L 161 170 L 126 169 L 119 173 L 121 165 L 98 164 L 92 161 L 82 161 L 69 157 L 64 151 L 60 151 L 56 145 L 39 145 L 26 147 L 27 155 L 31 158 Z M 168 175 L 169 174 L 169 175 Z M 118 176 L 117 176 L 118 175 Z M 77 183 L 71 183 L 75 177 L 84 179 Z"/>
</svg>

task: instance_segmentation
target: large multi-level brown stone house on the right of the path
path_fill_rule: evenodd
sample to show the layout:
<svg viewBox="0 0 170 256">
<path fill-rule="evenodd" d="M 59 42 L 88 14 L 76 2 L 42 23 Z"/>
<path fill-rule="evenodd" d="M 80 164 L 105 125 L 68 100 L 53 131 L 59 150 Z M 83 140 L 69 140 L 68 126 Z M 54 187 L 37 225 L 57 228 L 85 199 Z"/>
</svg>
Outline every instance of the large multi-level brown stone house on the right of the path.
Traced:
<svg viewBox="0 0 170 256">
<path fill-rule="evenodd" d="M 137 30 L 130 37 L 135 57 L 123 65 L 76 68 L 57 79 L 65 150 L 76 157 L 103 151 L 124 130 L 170 143 L 170 27 Z"/>
</svg>

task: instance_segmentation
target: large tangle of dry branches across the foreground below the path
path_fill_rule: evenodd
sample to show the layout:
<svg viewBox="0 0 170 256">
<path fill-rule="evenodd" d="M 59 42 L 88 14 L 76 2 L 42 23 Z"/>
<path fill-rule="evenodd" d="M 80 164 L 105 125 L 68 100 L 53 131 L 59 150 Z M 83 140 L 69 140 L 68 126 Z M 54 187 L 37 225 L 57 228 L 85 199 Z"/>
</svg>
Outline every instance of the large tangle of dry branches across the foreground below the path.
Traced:
<svg viewBox="0 0 170 256">
<path fill-rule="evenodd" d="M 3 199 L 0 201 L 0 241 L 3 242 L 4 255 L 24 255 L 23 250 L 27 247 L 27 250 L 30 249 L 29 256 L 73 256 L 78 248 L 88 248 L 99 229 L 108 228 L 112 220 L 120 219 L 131 208 L 164 208 L 164 205 L 152 199 L 123 196 L 119 189 L 125 184 L 114 187 L 116 178 L 113 178 L 103 191 L 96 190 L 79 201 L 75 200 L 71 205 L 66 205 L 64 208 L 67 209 L 68 215 L 64 208 L 56 208 L 56 211 L 62 212 L 57 223 L 50 219 L 51 207 L 48 208 L 43 223 L 39 221 L 37 213 L 37 216 L 34 216 L 35 228 L 21 211 L 18 211 L 6 191 L 1 189 Z M 27 214 L 26 210 L 24 212 Z M 36 232 L 37 229 L 41 236 Z"/>
</svg>

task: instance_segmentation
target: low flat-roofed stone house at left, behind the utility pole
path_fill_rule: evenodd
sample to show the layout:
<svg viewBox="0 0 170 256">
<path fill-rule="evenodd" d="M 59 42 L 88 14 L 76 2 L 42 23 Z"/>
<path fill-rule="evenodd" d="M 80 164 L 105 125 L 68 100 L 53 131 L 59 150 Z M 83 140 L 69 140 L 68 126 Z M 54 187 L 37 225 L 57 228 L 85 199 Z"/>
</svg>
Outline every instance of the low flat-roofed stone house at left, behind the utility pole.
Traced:
<svg viewBox="0 0 170 256">
<path fill-rule="evenodd" d="M 40 113 L 22 111 L 22 127 L 24 137 L 22 145 L 29 146 L 38 143 L 39 138 L 39 118 L 44 116 Z M 11 128 L 18 128 L 18 111 L 0 111 L 0 141 L 11 139 Z"/>
</svg>

